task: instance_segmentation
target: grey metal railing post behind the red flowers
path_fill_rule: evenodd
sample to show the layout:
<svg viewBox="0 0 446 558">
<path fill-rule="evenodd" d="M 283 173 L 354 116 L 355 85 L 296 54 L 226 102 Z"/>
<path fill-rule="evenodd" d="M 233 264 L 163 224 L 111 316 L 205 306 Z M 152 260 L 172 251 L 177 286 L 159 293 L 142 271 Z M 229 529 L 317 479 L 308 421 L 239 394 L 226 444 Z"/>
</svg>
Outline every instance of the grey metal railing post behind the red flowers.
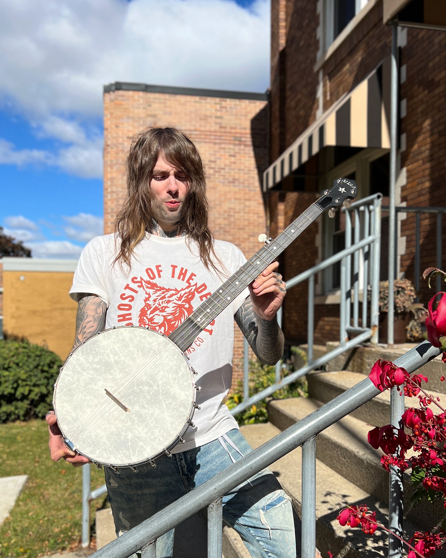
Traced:
<svg viewBox="0 0 446 558">
<path fill-rule="evenodd" d="M 400 386 L 403 388 L 403 386 Z M 404 392 L 403 392 L 404 393 Z M 396 387 L 390 391 L 390 424 L 400 427 L 401 415 L 404 413 L 404 395 Z M 389 529 L 403 536 L 403 473 L 390 466 L 389 475 Z M 403 543 L 389 533 L 389 558 L 403 558 Z"/>
</svg>

